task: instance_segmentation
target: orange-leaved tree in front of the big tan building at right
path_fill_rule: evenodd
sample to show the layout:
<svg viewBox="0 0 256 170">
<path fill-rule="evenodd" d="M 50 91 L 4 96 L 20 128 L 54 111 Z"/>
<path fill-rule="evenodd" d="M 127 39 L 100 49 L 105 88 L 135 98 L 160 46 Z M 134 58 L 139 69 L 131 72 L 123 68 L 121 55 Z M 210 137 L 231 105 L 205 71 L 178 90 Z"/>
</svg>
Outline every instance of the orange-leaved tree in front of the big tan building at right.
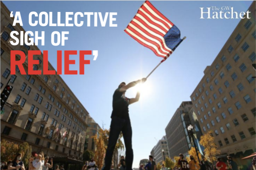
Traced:
<svg viewBox="0 0 256 170">
<path fill-rule="evenodd" d="M 201 136 L 200 145 L 204 147 L 205 155 L 210 158 L 210 162 L 212 162 L 213 166 L 214 161 L 216 161 L 216 155 L 220 154 L 220 150 L 217 150 L 217 145 L 214 142 L 212 131 L 208 131 L 206 134 Z"/>
</svg>

